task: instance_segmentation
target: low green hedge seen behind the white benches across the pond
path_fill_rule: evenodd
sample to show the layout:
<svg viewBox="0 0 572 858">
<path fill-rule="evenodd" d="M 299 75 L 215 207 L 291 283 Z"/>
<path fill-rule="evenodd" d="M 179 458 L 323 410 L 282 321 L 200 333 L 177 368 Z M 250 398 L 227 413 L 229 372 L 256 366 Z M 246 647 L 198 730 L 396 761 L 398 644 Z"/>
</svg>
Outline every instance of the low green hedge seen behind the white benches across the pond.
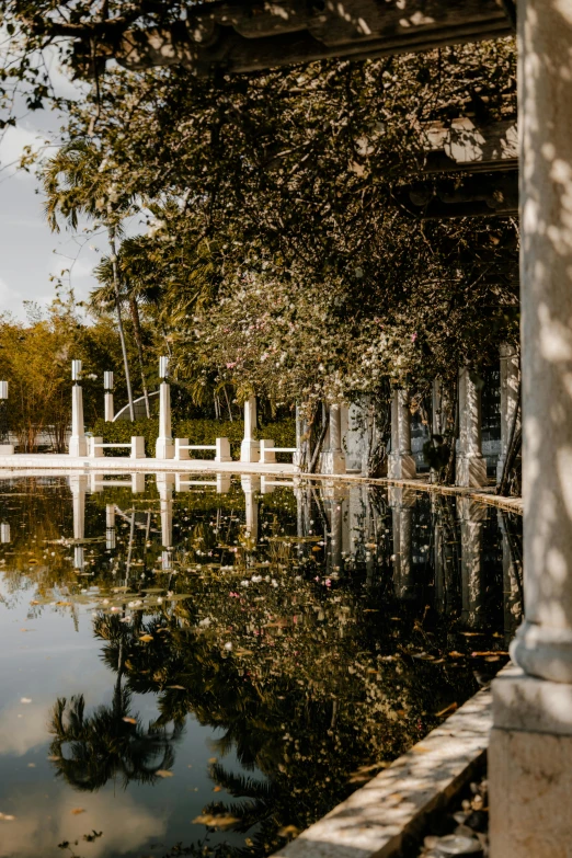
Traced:
<svg viewBox="0 0 572 858">
<path fill-rule="evenodd" d="M 131 435 L 142 435 L 145 438 L 145 453 L 155 457 L 155 443 L 159 434 L 159 421 L 155 417 L 136 420 L 131 423 L 122 420 L 117 423 L 105 423 L 98 420 L 92 428 L 93 435 L 103 437 L 105 444 L 128 444 Z M 240 458 L 240 443 L 244 435 L 244 424 L 241 420 L 173 420 L 173 438 L 188 438 L 190 444 L 215 444 L 217 438 L 230 441 L 232 458 Z M 294 417 L 282 420 L 277 423 L 266 423 L 261 426 L 256 436 L 260 438 L 273 438 L 276 447 L 296 446 L 296 422 Z M 191 458 L 214 459 L 214 450 L 188 450 Z M 128 456 L 127 449 L 105 450 L 107 456 Z M 291 461 L 289 454 L 277 454 L 278 461 Z"/>
</svg>

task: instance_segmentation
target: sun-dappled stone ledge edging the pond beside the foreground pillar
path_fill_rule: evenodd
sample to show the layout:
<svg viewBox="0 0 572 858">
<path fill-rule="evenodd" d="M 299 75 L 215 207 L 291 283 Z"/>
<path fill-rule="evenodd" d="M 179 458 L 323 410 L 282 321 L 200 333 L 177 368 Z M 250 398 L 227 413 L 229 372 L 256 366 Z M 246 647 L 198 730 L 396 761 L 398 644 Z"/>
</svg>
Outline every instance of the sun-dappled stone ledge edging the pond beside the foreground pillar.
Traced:
<svg viewBox="0 0 572 858">
<path fill-rule="evenodd" d="M 420 837 L 472 777 L 489 743 L 491 694 L 473 698 L 276 856 L 389 858 Z"/>
</svg>

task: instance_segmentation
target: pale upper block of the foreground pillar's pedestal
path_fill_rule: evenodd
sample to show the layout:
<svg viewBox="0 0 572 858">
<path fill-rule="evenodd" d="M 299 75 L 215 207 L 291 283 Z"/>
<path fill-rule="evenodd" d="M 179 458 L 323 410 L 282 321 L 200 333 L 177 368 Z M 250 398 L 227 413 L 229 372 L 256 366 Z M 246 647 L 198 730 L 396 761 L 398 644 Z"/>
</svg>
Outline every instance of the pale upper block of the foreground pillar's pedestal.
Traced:
<svg viewBox="0 0 572 858">
<path fill-rule="evenodd" d="M 492 683 L 496 730 L 572 735 L 572 686 L 527 676 L 516 665 Z"/>
</svg>

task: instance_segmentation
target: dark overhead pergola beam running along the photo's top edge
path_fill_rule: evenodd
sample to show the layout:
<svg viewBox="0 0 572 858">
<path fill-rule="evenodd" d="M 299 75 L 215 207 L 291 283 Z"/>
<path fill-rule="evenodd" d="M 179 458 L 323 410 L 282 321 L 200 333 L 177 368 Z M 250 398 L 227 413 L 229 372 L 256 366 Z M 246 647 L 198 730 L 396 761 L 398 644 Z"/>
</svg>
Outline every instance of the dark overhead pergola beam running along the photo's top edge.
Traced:
<svg viewBox="0 0 572 858">
<path fill-rule="evenodd" d="M 376 58 L 513 33 L 501 0 L 276 0 L 191 7 L 168 28 L 103 35 L 96 56 L 129 69 L 183 66 L 199 75 L 261 71 L 347 57 Z M 93 44 L 76 44 L 89 68 Z"/>
</svg>

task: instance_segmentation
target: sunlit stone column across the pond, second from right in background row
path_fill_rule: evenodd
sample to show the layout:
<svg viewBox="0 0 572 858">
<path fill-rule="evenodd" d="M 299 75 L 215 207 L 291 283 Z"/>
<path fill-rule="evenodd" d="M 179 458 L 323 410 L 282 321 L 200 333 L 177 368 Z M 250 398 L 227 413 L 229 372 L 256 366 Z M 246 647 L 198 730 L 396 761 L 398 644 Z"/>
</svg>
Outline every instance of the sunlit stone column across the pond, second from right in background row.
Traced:
<svg viewBox="0 0 572 858">
<path fill-rule="evenodd" d="M 459 370 L 459 449 L 455 484 L 487 485 L 487 461 L 481 453 L 481 391 L 468 367 Z"/>
</svg>

